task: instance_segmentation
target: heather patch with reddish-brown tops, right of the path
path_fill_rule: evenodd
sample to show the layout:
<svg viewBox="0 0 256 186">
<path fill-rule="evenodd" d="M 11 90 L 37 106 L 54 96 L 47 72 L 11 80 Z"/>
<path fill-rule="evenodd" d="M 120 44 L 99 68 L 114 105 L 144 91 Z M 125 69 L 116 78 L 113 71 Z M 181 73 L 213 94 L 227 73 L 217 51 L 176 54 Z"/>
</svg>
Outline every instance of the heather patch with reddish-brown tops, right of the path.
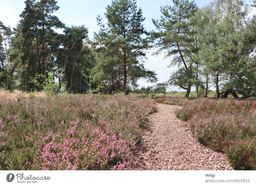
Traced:
<svg viewBox="0 0 256 186">
<path fill-rule="evenodd" d="M 196 139 L 225 152 L 233 168 L 255 170 L 256 109 L 253 101 L 196 99 L 176 110 Z"/>
</svg>

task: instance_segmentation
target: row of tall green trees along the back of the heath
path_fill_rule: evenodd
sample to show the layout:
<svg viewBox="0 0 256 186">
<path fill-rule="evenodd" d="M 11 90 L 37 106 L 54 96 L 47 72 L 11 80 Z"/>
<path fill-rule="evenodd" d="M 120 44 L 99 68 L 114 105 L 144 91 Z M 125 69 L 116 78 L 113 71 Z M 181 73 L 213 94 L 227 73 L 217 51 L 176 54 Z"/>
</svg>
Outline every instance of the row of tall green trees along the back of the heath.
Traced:
<svg viewBox="0 0 256 186">
<path fill-rule="evenodd" d="M 100 30 L 92 41 L 86 26 L 65 26 L 54 15 L 59 8 L 55 0 L 26 0 L 15 28 L 0 21 L 0 87 L 128 95 L 140 78 L 157 81 L 143 65 L 146 50 L 155 47 L 178 67 L 161 87 L 178 86 L 186 97 L 192 87 L 204 97 L 210 87 L 217 97 L 256 96 L 256 17 L 248 18 L 251 5 L 242 0 L 214 0 L 203 8 L 172 0 L 152 19 L 155 31 L 145 30 L 135 0 L 113 0 L 107 23 L 97 17 Z"/>
</svg>

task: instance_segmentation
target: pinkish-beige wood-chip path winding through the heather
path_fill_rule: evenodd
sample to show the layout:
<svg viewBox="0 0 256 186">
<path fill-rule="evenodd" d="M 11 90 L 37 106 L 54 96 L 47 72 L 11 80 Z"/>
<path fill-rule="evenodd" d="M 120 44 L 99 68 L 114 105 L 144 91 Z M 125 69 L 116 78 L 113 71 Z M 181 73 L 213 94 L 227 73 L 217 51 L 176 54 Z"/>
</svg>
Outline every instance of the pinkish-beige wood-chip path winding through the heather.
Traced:
<svg viewBox="0 0 256 186">
<path fill-rule="evenodd" d="M 176 105 L 158 104 L 145 126 L 138 150 L 140 170 L 231 170 L 225 154 L 193 138 L 187 122 L 176 118 Z"/>
</svg>

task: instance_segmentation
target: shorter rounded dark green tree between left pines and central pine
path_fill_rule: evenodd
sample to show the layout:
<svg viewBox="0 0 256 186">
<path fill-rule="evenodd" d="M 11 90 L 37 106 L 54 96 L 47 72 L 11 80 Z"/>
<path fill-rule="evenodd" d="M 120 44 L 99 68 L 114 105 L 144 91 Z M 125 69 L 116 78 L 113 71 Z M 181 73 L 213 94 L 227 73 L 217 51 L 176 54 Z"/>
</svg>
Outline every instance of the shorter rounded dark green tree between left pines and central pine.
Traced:
<svg viewBox="0 0 256 186">
<path fill-rule="evenodd" d="M 88 29 L 84 26 L 65 27 L 57 42 L 57 72 L 60 85 L 70 93 L 84 93 L 90 88 L 91 69 L 95 63 L 88 41 Z"/>
</svg>

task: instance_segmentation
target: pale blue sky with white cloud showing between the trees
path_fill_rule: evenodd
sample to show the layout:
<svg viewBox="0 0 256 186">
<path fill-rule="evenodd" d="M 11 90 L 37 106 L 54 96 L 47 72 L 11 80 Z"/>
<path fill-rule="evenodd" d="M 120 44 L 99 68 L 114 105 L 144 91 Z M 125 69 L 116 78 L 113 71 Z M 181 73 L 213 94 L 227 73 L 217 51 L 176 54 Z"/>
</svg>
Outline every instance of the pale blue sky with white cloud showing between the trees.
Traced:
<svg viewBox="0 0 256 186">
<path fill-rule="evenodd" d="M 93 33 L 98 32 L 99 27 L 96 23 L 97 15 L 104 17 L 106 7 L 111 4 L 112 0 L 59 0 L 60 9 L 54 13 L 60 21 L 66 26 L 85 25 L 89 30 L 89 38 L 93 39 Z M 210 3 L 210 0 L 195 0 L 199 7 L 203 7 Z M 250 4 L 252 0 L 246 0 L 246 4 Z M 141 7 L 143 16 L 146 18 L 143 22 L 146 30 L 154 30 L 155 27 L 151 19 L 160 19 L 160 6 L 172 5 L 171 0 L 137 0 L 138 7 Z M 23 0 L 0 0 L 0 20 L 4 25 L 15 27 L 20 20 L 20 13 L 25 7 Z M 256 14 L 253 9 L 250 16 Z M 104 22 L 104 19 L 103 19 Z M 164 54 L 152 56 L 153 50 L 147 54 L 148 59 L 145 60 L 144 66 L 149 70 L 154 70 L 157 74 L 158 82 L 165 82 L 169 79 L 174 68 L 167 67 L 171 58 L 164 58 Z M 139 80 L 140 86 L 152 86 L 145 80 Z M 172 90 L 179 90 L 177 87 L 171 87 Z"/>
</svg>

